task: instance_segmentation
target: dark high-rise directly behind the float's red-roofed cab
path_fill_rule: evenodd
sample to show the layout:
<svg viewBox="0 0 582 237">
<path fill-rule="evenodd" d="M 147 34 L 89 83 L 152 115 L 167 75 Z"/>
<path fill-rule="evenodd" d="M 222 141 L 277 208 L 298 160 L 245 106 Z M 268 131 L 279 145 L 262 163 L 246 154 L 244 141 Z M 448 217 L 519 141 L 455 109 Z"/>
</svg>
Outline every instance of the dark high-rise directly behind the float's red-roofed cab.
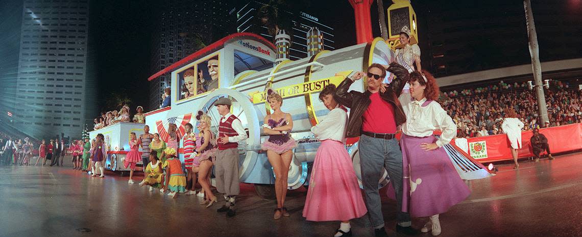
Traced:
<svg viewBox="0 0 582 237">
<path fill-rule="evenodd" d="M 151 74 L 176 63 L 196 50 L 232 34 L 235 9 L 228 1 L 163 1 L 157 25 L 152 32 Z M 150 81 L 150 104 L 155 110 L 162 103 L 161 94 L 170 86 L 171 74 Z"/>
</svg>

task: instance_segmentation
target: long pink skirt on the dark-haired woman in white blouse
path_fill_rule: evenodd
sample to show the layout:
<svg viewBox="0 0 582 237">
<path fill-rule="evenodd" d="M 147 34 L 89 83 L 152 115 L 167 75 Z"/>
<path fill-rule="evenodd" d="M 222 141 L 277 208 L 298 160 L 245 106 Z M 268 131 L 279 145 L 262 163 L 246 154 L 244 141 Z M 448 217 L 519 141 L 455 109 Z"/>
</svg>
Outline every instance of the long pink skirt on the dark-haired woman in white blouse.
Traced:
<svg viewBox="0 0 582 237">
<path fill-rule="evenodd" d="M 303 207 L 308 221 L 347 221 L 368 212 L 343 143 L 324 140 L 317 149 Z"/>
</svg>

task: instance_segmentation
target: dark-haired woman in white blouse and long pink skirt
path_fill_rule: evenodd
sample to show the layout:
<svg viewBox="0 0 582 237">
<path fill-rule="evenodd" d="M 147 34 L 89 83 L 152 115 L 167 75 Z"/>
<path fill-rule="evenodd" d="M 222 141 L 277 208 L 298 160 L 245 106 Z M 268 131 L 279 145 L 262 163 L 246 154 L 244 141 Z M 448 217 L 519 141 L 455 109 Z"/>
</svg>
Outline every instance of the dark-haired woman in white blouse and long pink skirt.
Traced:
<svg viewBox="0 0 582 237">
<path fill-rule="evenodd" d="M 311 127 L 321 145 L 315 155 L 303 216 L 308 221 L 342 221 L 333 235 L 338 237 L 351 236 L 349 220 L 364 216 L 367 209 L 344 145 L 347 112 L 333 99 L 335 89 L 332 84 L 321 91 L 320 100 L 330 112 Z"/>
</svg>

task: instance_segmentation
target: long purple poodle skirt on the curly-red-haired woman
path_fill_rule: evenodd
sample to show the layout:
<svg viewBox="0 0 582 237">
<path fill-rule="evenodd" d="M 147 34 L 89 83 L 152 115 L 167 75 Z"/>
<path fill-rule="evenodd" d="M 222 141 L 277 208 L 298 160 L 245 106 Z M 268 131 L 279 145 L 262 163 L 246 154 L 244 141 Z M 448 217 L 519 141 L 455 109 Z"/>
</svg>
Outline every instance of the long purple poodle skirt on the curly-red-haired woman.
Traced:
<svg viewBox="0 0 582 237">
<path fill-rule="evenodd" d="M 435 143 L 437 137 L 412 137 L 402 134 L 402 212 L 413 217 L 445 213 L 466 199 L 471 191 L 457 173 L 443 147 L 432 151 L 420 148 Z M 395 197 L 388 188 L 388 196 Z"/>
</svg>

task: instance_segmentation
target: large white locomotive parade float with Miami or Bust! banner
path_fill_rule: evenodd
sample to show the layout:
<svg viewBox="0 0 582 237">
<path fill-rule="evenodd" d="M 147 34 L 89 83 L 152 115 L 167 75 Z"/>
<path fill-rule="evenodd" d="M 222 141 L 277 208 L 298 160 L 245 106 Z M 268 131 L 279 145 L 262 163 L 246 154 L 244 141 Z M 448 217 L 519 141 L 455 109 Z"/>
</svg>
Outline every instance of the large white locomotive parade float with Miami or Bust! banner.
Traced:
<svg viewBox="0 0 582 237">
<path fill-rule="evenodd" d="M 411 9 L 410 2 L 396 2 L 399 4 L 392 6 L 396 11 L 389 8 L 389 16 L 392 21 L 398 21 L 399 25 L 391 25 L 391 28 L 400 29 L 406 25 L 413 29 L 413 35 L 417 37 L 416 13 Z M 356 19 L 365 21 L 365 17 L 361 16 L 362 11 L 358 10 L 361 8 L 359 4 L 352 3 Z M 369 5 L 367 9 L 369 26 Z M 394 20 L 393 15 L 400 18 Z M 371 28 L 368 28 L 371 37 Z M 358 35 L 368 35 L 363 32 L 366 31 L 365 27 L 363 30 L 357 28 L 356 31 Z M 145 114 L 145 123 L 150 126 L 151 133 L 159 133 L 166 140 L 169 123 L 173 123 L 182 137 L 186 123 L 196 127 L 198 121 L 194 117 L 201 110 L 210 115 L 211 130 L 218 134 L 218 121 L 221 116 L 215 109 L 214 102 L 220 97 L 228 97 L 232 100 L 232 114 L 240 119 L 249 137 L 240 142 L 238 147 L 240 181 L 255 184 L 258 195 L 268 196 L 275 178 L 267 154 L 261 151 L 261 143 L 268 138 L 268 135 L 262 133 L 262 123 L 265 116 L 271 113 L 266 94 L 267 89 L 272 88 L 283 97 L 281 110 L 292 115 L 293 130 L 290 135 L 298 143 L 293 150 L 288 188 L 296 189 L 308 185 L 310 163 L 314 161 L 317 148 L 321 144 L 310 129 L 329 112 L 318 99 L 319 93 L 325 85 L 339 85 L 347 76 L 356 71 L 365 71 L 372 63 L 387 65 L 395 61 L 393 49 L 398 47 L 399 32 L 391 31 L 391 36 L 396 38 L 392 37 L 388 41 L 382 38 L 358 37 L 357 45 L 343 49 L 315 52 L 310 50 L 309 57 L 296 61 L 284 59 L 289 53 L 289 41 L 282 37 L 283 34 L 285 32 L 279 32 L 275 36 L 275 45 L 255 34 L 232 34 L 150 76 L 148 81 L 171 74 L 171 107 Z M 322 37 L 317 37 L 317 28 L 312 28 L 307 34 L 307 45 L 317 45 L 323 40 Z M 310 40 L 313 42 L 309 42 Z M 391 78 L 388 73 L 384 80 L 389 83 Z M 365 85 L 366 78 L 353 83 L 350 89 L 363 92 Z M 194 132 L 198 130 L 194 129 Z M 354 170 L 361 180 L 357 140 L 358 138 L 350 138 L 346 149 L 352 156 Z M 182 144 L 180 147 L 183 147 Z M 183 161 L 181 149 L 179 154 Z M 455 165 L 461 166 L 467 174 L 487 172 L 478 162 L 463 158 L 459 158 Z M 384 172 L 378 181 L 379 187 L 388 184 L 388 180 L 388 173 Z"/>
</svg>

